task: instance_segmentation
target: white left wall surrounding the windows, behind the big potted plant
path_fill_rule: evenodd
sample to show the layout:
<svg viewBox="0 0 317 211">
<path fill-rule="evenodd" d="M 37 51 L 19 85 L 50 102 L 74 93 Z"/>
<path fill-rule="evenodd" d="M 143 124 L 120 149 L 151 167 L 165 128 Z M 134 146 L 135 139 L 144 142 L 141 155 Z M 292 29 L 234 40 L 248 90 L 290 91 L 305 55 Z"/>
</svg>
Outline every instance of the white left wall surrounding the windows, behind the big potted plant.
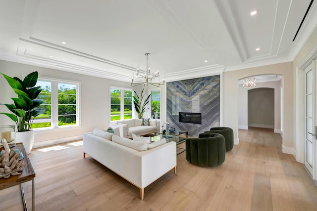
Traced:
<svg viewBox="0 0 317 211">
<path fill-rule="evenodd" d="M 22 75 L 38 71 L 39 77 L 77 81 L 81 83 L 81 127 L 68 129 L 51 129 L 35 132 L 34 146 L 42 146 L 44 143 L 54 144 L 58 141 L 70 141 L 81 138 L 84 132 L 93 131 L 98 127 L 106 129 L 109 125 L 109 87 L 131 88 L 130 83 L 74 74 L 49 68 L 36 67 L 0 60 L 0 72 L 11 77 L 22 78 Z M 10 97 L 15 93 L 0 76 L 0 103 L 12 103 Z M 4 105 L 0 105 L 0 112 L 8 112 Z M 13 125 L 8 117 L 0 115 L 0 125 Z M 42 143 L 40 143 L 42 142 Z"/>
</svg>

